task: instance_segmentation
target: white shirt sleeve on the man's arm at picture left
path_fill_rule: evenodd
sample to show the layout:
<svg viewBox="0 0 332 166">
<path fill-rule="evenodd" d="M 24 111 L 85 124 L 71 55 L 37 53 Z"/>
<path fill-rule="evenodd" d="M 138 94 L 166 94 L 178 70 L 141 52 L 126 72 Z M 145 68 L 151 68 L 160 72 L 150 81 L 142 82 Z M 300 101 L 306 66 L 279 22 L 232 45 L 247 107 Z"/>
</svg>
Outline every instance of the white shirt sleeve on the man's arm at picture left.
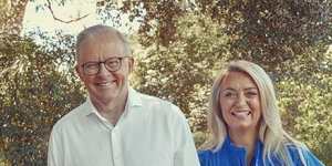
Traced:
<svg viewBox="0 0 332 166">
<path fill-rule="evenodd" d="M 63 166 L 62 154 L 63 151 L 62 145 L 60 144 L 60 136 L 53 128 L 49 139 L 48 166 Z"/>
</svg>

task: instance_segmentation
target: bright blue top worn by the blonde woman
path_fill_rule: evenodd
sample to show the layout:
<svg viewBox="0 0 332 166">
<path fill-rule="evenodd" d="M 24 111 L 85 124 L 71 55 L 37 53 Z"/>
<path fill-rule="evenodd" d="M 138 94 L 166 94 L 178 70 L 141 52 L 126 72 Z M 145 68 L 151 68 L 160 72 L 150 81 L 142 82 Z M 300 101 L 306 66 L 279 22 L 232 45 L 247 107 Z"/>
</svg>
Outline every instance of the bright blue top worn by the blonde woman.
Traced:
<svg viewBox="0 0 332 166">
<path fill-rule="evenodd" d="M 307 148 L 300 148 L 303 154 L 307 166 L 323 166 L 323 164 Z M 295 146 L 288 146 L 289 155 L 292 159 L 293 166 L 302 166 L 299 151 Z M 201 166 L 247 166 L 246 163 L 246 148 L 237 147 L 231 143 L 229 136 L 226 137 L 222 146 L 217 152 L 210 149 L 199 151 L 198 157 Z M 258 141 L 255 147 L 255 154 L 252 156 L 250 166 L 262 166 L 263 159 L 263 144 Z M 283 162 L 276 155 L 271 156 L 271 159 L 266 159 L 267 166 L 283 166 Z"/>
</svg>

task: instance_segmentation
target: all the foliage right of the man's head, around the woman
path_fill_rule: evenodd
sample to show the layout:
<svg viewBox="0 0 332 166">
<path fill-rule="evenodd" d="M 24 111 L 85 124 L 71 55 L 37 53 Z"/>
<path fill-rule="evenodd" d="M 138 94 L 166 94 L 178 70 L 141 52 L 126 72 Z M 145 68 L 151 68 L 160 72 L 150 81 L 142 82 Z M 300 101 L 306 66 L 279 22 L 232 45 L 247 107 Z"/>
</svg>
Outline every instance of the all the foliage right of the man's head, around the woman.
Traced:
<svg viewBox="0 0 332 166">
<path fill-rule="evenodd" d="M 165 3 L 143 0 L 121 8 L 143 18 L 138 41 L 146 53 L 136 86 L 178 104 L 198 133 L 197 145 L 205 137 L 207 96 L 218 66 L 245 59 L 263 66 L 276 82 L 286 128 L 331 163 L 326 45 L 332 1 L 177 1 L 169 10 L 162 8 Z M 180 14 L 168 14 L 173 11 Z"/>
</svg>

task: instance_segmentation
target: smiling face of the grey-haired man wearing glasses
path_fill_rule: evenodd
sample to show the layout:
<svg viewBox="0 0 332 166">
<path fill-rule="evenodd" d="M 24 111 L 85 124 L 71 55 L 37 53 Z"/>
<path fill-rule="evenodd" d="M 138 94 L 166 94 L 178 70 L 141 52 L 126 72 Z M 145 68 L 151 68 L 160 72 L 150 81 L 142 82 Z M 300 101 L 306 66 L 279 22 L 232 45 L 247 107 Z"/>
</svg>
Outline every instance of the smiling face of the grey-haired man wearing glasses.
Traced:
<svg viewBox="0 0 332 166">
<path fill-rule="evenodd" d="M 133 59 L 120 60 L 121 68 L 110 72 L 105 63 L 100 63 L 96 74 L 86 74 L 83 65 L 91 62 L 104 62 L 110 58 L 123 58 L 123 43 L 116 40 L 97 39 L 86 40 L 80 44 L 76 71 L 81 81 L 85 84 L 93 102 L 108 104 L 118 101 L 127 94 L 128 75 L 133 69 Z"/>
</svg>

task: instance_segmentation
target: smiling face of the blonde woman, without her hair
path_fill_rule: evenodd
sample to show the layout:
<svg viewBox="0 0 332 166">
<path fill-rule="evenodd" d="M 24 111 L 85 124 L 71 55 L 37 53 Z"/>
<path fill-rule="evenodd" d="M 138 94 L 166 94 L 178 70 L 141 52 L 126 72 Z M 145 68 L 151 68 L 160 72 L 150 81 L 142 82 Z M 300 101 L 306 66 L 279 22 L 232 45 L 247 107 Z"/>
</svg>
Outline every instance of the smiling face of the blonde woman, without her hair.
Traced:
<svg viewBox="0 0 332 166">
<path fill-rule="evenodd" d="M 242 72 L 229 72 L 220 90 L 219 104 L 228 129 L 257 129 L 261 116 L 260 94 L 252 79 Z"/>
</svg>

